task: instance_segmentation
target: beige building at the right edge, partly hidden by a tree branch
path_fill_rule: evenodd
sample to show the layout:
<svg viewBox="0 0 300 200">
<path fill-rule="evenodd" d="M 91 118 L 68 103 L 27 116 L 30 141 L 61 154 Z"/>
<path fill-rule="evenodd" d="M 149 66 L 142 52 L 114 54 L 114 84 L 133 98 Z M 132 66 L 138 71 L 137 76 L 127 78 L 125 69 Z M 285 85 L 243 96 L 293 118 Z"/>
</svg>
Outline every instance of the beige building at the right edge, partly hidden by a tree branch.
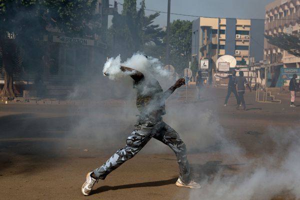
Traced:
<svg viewBox="0 0 300 200">
<path fill-rule="evenodd" d="M 264 34 L 298 33 L 300 31 L 299 8 L 300 0 L 275 0 L 267 4 L 265 6 Z M 264 60 L 273 75 L 279 74 L 278 71 L 282 66 L 285 68 L 300 67 L 300 57 L 269 44 L 267 39 L 264 39 Z"/>
</svg>

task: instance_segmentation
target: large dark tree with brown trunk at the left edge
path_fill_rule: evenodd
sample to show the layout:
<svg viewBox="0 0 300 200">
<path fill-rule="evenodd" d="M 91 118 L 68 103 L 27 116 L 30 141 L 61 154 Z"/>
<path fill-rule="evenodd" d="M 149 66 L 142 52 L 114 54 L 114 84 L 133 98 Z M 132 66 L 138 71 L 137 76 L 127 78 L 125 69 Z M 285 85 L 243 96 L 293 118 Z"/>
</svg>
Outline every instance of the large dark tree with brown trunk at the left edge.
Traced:
<svg viewBox="0 0 300 200">
<path fill-rule="evenodd" d="M 0 49 L 4 86 L 2 98 L 13 99 L 14 56 L 21 45 L 28 45 L 45 34 L 46 26 L 70 35 L 91 34 L 90 19 L 96 0 L 3 0 L 0 3 Z M 7 39 L 7 34 L 13 38 Z"/>
</svg>

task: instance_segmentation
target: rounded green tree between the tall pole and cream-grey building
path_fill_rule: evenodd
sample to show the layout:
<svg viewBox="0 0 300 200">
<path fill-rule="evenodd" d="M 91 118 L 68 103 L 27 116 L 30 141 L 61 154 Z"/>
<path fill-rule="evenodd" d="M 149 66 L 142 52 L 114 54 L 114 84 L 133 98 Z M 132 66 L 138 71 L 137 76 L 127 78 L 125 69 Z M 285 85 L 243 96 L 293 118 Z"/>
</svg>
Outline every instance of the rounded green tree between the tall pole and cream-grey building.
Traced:
<svg viewBox="0 0 300 200">
<path fill-rule="evenodd" d="M 191 21 L 175 20 L 170 23 L 170 63 L 180 73 L 191 57 Z"/>
</svg>

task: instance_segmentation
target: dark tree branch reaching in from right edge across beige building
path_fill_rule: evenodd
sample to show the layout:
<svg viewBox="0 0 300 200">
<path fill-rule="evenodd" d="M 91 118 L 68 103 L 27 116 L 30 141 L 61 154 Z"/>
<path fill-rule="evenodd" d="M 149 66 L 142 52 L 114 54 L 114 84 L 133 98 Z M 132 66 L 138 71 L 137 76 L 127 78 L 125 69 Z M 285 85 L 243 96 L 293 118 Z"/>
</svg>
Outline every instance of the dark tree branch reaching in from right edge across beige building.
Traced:
<svg viewBox="0 0 300 200">
<path fill-rule="evenodd" d="M 264 35 L 268 43 L 277 46 L 280 49 L 286 50 L 288 53 L 300 56 L 300 33 L 287 34 L 279 32 L 274 35 Z"/>
</svg>

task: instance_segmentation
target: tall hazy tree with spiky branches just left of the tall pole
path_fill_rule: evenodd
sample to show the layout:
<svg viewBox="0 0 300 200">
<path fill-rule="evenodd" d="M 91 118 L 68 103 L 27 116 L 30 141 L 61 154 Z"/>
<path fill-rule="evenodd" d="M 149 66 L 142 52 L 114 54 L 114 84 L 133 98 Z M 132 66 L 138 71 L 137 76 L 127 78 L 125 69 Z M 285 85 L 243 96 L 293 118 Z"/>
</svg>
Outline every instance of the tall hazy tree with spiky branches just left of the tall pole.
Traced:
<svg viewBox="0 0 300 200">
<path fill-rule="evenodd" d="M 136 51 L 151 52 L 153 46 L 162 43 L 159 38 L 164 32 L 158 25 L 152 24 L 159 13 L 145 16 L 144 9 L 144 0 L 138 10 L 136 0 L 124 0 L 122 13 L 115 13 L 109 29 L 113 35 L 113 54 L 129 57 Z"/>
</svg>

